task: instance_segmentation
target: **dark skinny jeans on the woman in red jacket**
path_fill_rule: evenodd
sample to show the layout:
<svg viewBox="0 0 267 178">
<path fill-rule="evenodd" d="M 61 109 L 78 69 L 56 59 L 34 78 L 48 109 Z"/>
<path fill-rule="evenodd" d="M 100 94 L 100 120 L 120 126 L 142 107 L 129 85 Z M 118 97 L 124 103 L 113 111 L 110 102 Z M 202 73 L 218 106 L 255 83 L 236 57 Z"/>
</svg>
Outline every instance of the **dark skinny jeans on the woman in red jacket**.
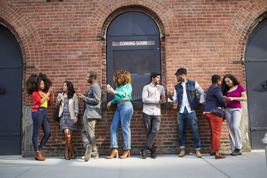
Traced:
<svg viewBox="0 0 267 178">
<path fill-rule="evenodd" d="M 39 107 L 36 112 L 32 112 L 33 119 L 33 146 L 34 151 L 43 150 L 45 143 L 47 142 L 49 136 L 51 135 L 50 131 L 50 122 L 47 116 L 47 111 L 45 107 Z M 44 131 L 44 137 L 41 139 L 40 145 L 38 146 L 38 136 L 40 132 L 40 128 Z"/>
</svg>

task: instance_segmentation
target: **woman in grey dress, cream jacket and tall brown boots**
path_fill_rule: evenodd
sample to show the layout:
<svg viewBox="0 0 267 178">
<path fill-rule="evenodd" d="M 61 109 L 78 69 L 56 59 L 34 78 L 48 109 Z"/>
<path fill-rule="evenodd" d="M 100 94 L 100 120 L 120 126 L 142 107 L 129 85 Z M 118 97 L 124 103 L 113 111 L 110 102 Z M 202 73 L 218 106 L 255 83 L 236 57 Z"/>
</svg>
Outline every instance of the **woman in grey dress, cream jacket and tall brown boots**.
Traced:
<svg viewBox="0 0 267 178">
<path fill-rule="evenodd" d="M 72 132 L 78 129 L 78 116 L 79 116 L 79 100 L 75 94 L 73 84 L 65 81 L 63 84 L 63 92 L 57 96 L 56 107 L 60 104 L 59 114 L 59 130 L 64 130 L 66 146 L 64 151 L 65 159 L 70 160 L 75 158 L 75 152 L 72 147 Z"/>
</svg>

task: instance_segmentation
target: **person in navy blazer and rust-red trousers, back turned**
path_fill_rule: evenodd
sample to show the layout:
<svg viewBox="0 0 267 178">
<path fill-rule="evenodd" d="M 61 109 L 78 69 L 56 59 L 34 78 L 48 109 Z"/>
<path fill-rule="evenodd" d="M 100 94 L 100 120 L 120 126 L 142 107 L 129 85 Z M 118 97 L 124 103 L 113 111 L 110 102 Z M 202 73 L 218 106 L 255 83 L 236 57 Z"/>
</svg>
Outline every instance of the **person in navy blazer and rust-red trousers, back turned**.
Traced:
<svg viewBox="0 0 267 178">
<path fill-rule="evenodd" d="M 203 110 L 204 116 L 208 119 L 211 129 L 211 151 L 210 155 L 215 155 L 215 159 L 225 158 L 220 154 L 221 132 L 223 125 L 223 107 L 226 108 L 226 101 L 223 97 L 221 76 L 212 76 L 212 85 L 206 93 L 206 104 Z"/>
</svg>

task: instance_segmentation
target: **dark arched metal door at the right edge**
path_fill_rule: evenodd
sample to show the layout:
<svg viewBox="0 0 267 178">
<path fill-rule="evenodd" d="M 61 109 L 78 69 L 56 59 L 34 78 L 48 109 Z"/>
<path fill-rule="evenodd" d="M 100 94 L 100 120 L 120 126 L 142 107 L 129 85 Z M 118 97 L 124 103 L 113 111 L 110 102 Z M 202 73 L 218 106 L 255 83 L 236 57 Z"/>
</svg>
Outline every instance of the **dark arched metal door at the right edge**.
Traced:
<svg viewBox="0 0 267 178">
<path fill-rule="evenodd" d="M 252 149 L 264 149 L 267 133 L 267 20 L 250 34 L 245 50 L 249 130 Z"/>
</svg>

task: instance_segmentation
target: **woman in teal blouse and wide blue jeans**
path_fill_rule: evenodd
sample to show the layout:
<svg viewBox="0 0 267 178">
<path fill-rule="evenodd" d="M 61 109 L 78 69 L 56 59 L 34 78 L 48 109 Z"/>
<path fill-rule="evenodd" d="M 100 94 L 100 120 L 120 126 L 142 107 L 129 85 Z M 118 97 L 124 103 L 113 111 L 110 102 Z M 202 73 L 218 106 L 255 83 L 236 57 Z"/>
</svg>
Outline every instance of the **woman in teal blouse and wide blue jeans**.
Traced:
<svg viewBox="0 0 267 178">
<path fill-rule="evenodd" d="M 134 112 L 132 100 L 132 86 L 131 86 L 131 74 L 124 70 L 117 70 L 113 75 L 113 81 L 116 84 L 116 89 L 112 87 L 107 88 L 109 93 L 114 94 L 114 99 L 107 104 L 109 109 L 111 104 L 117 104 L 117 110 L 113 116 L 110 126 L 111 132 L 111 154 L 108 159 L 112 159 L 115 155 L 118 158 L 118 146 L 119 146 L 119 128 L 122 125 L 123 134 L 123 155 L 120 158 L 130 157 L 131 149 L 131 130 L 130 123 Z"/>
</svg>

